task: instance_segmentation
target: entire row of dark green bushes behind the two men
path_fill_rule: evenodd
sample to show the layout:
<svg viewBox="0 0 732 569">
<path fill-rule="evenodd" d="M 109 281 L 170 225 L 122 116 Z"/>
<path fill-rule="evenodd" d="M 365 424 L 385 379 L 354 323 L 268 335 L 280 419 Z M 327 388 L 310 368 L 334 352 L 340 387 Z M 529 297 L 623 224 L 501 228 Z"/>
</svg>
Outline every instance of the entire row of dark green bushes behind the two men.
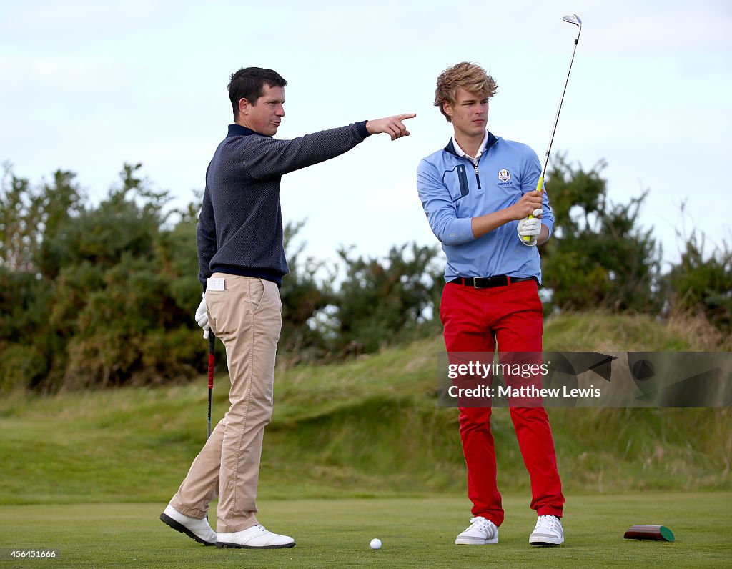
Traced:
<svg viewBox="0 0 732 569">
<path fill-rule="evenodd" d="M 152 190 L 140 168 L 125 164 L 119 184 L 91 206 L 75 174 L 59 170 L 31 185 L 5 166 L 0 391 L 157 384 L 206 370 L 206 342 L 193 319 L 201 300 L 200 200 L 164 212 L 167 193 Z M 611 204 L 601 170 L 602 163 L 584 171 L 560 159 L 548 177 L 556 223 L 541 248 L 547 307 L 658 313 L 665 304 L 701 313 L 730 335 L 732 252 L 725 246 L 705 256 L 692 234 L 679 264 L 660 278 L 660 250 L 638 227 L 645 194 Z M 437 247 L 395 246 L 385 259 L 341 249 L 340 271 L 294 247 L 303 223 L 284 229 L 291 274 L 280 291 L 279 352 L 286 362 L 373 353 L 440 330 Z M 218 350 L 223 355 L 220 343 Z"/>
</svg>

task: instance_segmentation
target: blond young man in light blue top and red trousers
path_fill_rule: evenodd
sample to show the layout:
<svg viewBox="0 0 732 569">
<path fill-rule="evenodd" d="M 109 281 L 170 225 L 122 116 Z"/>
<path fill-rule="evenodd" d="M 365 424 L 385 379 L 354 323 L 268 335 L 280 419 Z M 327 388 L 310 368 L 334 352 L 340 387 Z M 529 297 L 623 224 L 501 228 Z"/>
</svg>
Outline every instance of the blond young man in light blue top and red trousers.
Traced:
<svg viewBox="0 0 732 569">
<path fill-rule="evenodd" d="M 542 351 L 537 245 L 549 239 L 553 217 L 547 194 L 536 191 L 537 155 L 487 129 L 488 100 L 496 89 L 475 64 L 459 63 L 441 73 L 435 105 L 454 133 L 417 170 L 422 207 L 447 256 L 440 316 L 448 354 L 493 354 L 496 343 L 501 353 Z M 504 520 L 490 414 L 490 406 L 460 406 L 473 507 L 471 524 L 456 544 L 497 543 Z M 548 415 L 541 403 L 510 406 L 510 414 L 538 516 L 529 543 L 558 546 L 564 542 L 564 496 Z"/>
</svg>

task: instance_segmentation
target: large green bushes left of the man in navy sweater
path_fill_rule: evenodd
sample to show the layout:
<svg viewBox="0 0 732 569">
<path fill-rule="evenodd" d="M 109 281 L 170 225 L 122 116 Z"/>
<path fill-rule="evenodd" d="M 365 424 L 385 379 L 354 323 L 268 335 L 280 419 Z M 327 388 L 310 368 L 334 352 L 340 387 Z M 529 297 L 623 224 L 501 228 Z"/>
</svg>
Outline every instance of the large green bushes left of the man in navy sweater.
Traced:
<svg viewBox="0 0 732 569">
<path fill-rule="evenodd" d="M 32 186 L 6 167 L 0 196 L 0 388 L 161 382 L 206 368 L 195 209 L 163 214 L 141 166 L 84 207 L 74 175 Z M 19 346 L 23 346 L 22 348 Z"/>
</svg>

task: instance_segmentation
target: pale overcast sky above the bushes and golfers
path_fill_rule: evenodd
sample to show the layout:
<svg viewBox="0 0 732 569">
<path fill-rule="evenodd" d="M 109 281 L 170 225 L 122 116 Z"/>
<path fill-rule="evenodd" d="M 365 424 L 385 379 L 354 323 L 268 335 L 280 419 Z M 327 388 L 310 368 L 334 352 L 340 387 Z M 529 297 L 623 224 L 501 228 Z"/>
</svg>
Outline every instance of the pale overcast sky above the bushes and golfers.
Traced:
<svg viewBox="0 0 732 569">
<path fill-rule="evenodd" d="M 232 122 L 229 75 L 270 67 L 289 83 L 278 138 L 417 113 L 408 138 L 373 136 L 285 176 L 283 215 L 307 218 L 307 253 L 433 245 L 415 171 L 452 133 L 432 105 L 438 73 L 482 64 L 498 82 L 489 130 L 542 158 L 576 34 L 561 17 L 572 12 L 583 29 L 553 156 L 605 160 L 616 203 L 648 189 L 642 223 L 665 259 L 684 227 L 732 244 L 728 0 L 0 0 L 0 161 L 32 182 L 75 171 L 94 201 L 124 162 L 140 162 L 182 206 Z"/>
</svg>

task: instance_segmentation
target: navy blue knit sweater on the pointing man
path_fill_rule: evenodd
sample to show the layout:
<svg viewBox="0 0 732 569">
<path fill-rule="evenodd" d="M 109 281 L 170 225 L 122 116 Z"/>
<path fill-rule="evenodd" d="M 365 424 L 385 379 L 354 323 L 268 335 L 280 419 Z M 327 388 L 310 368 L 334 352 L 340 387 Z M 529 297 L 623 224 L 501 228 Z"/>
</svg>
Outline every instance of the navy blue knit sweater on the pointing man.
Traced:
<svg viewBox="0 0 732 569">
<path fill-rule="evenodd" d="M 214 272 L 282 285 L 289 272 L 283 247 L 283 174 L 348 152 L 369 135 L 366 122 L 321 130 L 290 141 L 230 124 L 206 170 L 198 218 L 198 280 Z"/>
</svg>

